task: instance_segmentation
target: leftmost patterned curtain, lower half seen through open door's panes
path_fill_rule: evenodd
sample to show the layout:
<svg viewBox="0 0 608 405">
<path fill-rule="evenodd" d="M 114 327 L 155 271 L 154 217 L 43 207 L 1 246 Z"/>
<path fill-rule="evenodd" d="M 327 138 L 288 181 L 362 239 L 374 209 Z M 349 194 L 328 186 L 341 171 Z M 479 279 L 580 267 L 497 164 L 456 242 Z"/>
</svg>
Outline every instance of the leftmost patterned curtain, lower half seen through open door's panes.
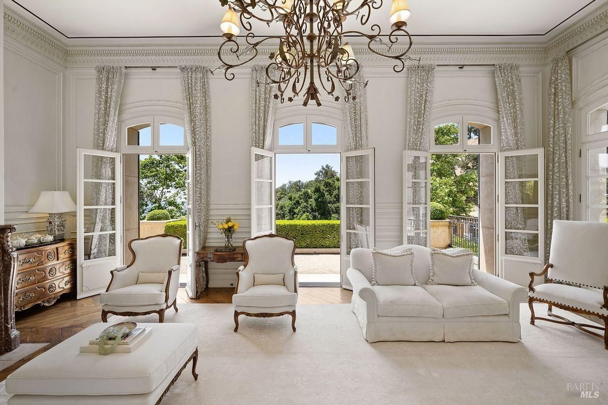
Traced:
<svg viewBox="0 0 608 405">
<path fill-rule="evenodd" d="M 118 143 L 118 109 L 120 94 L 125 78 L 124 66 L 95 67 L 95 117 L 93 121 L 93 148 L 100 151 L 116 152 Z M 94 179 L 114 179 L 115 159 L 94 156 L 92 174 Z M 115 205 L 114 183 L 92 183 L 91 205 Z M 95 208 L 91 211 L 92 232 L 114 230 L 116 213 L 114 208 Z M 91 237 L 90 259 L 116 255 L 116 234 L 100 234 Z"/>
</svg>

